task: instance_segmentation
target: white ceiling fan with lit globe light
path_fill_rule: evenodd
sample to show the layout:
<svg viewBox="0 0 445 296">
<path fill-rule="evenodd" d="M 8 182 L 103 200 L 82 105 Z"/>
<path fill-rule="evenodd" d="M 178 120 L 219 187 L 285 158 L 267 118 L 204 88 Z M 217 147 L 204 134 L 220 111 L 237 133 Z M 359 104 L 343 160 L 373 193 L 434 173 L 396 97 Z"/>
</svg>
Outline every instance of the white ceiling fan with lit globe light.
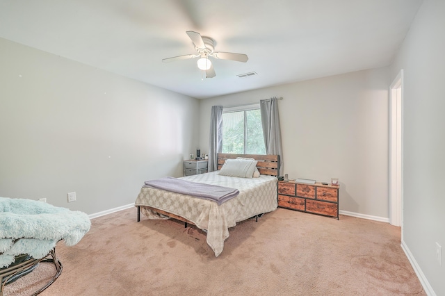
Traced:
<svg viewBox="0 0 445 296">
<path fill-rule="evenodd" d="M 220 58 L 221 60 L 236 60 L 237 62 L 247 62 L 248 56 L 245 54 L 234 54 L 232 52 L 215 52 L 215 41 L 209 37 L 201 36 L 200 33 L 194 31 L 186 31 L 188 37 L 195 45 L 197 54 L 186 54 L 184 56 L 174 56 L 172 58 L 164 58 L 163 63 L 174 62 L 175 60 L 186 60 L 188 58 L 200 58 L 197 60 L 197 67 L 206 72 L 207 78 L 215 77 L 215 69 L 209 57 Z"/>
</svg>

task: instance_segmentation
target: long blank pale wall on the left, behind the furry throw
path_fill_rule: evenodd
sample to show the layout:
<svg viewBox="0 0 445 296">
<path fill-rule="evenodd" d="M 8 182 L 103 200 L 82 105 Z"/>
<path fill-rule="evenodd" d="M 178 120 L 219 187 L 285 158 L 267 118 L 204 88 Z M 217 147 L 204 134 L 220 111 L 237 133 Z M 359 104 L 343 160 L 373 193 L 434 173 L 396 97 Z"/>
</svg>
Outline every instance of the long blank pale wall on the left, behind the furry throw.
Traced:
<svg viewBox="0 0 445 296">
<path fill-rule="evenodd" d="M 197 99 L 4 39 L 0 65 L 0 196 L 91 214 L 133 203 L 147 179 L 182 175 Z"/>
</svg>

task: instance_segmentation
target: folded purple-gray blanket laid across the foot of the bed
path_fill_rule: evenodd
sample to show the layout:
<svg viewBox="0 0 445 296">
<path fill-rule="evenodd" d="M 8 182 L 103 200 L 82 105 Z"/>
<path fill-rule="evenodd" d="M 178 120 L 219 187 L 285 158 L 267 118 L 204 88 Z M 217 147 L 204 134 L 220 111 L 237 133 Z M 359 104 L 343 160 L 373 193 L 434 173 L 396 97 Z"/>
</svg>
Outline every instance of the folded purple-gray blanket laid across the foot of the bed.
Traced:
<svg viewBox="0 0 445 296">
<path fill-rule="evenodd" d="M 227 202 L 227 200 L 236 197 L 239 194 L 238 189 L 227 188 L 203 183 L 185 181 L 171 176 L 165 176 L 161 179 L 145 181 L 143 187 L 158 188 L 171 192 L 181 193 L 182 195 L 192 195 L 202 199 L 212 200 L 218 205 Z"/>
</svg>

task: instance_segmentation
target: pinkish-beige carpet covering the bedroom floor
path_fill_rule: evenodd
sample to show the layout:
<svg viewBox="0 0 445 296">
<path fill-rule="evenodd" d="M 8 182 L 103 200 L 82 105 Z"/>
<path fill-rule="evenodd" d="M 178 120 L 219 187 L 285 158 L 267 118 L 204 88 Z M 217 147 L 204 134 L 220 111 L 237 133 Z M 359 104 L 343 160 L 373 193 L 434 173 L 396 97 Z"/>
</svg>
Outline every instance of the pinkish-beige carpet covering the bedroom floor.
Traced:
<svg viewBox="0 0 445 296">
<path fill-rule="evenodd" d="M 279 208 L 230 229 L 217 258 L 205 238 L 172 220 L 136 222 L 136 208 L 96 218 L 78 245 L 58 243 L 63 272 L 41 295 L 426 295 L 387 223 Z M 51 269 L 5 295 L 30 295 Z"/>
</svg>

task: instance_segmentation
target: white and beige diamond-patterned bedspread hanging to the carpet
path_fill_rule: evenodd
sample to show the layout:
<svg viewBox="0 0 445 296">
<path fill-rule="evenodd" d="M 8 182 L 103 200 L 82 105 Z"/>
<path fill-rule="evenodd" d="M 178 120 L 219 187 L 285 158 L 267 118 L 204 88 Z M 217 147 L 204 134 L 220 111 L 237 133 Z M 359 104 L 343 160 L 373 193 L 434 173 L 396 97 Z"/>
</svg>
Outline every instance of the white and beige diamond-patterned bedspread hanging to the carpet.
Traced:
<svg viewBox="0 0 445 296">
<path fill-rule="evenodd" d="M 237 178 L 220 176 L 218 172 L 185 176 L 181 179 L 197 183 L 207 183 L 239 190 L 234 199 L 218 206 L 216 202 L 199 199 L 191 195 L 168 192 L 156 188 L 142 188 L 135 206 L 151 206 L 179 215 L 193 222 L 200 229 L 207 230 L 207 244 L 218 256 L 223 252 L 224 241 L 229 237 L 229 227 L 236 222 L 254 215 L 268 213 L 277 209 L 277 178 L 261 175 L 259 178 Z M 142 211 L 150 219 L 150 215 Z"/>
</svg>

